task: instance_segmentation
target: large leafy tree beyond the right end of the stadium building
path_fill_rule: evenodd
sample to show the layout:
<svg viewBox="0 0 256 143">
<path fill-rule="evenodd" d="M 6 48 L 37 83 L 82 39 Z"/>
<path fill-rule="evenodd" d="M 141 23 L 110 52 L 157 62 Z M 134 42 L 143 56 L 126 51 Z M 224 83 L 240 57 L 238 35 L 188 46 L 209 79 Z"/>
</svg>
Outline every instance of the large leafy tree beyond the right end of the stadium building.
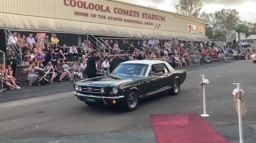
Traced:
<svg viewBox="0 0 256 143">
<path fill-rule="evenodd" d="M 221 31 L 227 39 L 233 38 L 234 27 L 239 24 L 239 12 L 235 9 L 221 9 L 214 15 L 217 20 L 217 30 Z"/>
</svg>

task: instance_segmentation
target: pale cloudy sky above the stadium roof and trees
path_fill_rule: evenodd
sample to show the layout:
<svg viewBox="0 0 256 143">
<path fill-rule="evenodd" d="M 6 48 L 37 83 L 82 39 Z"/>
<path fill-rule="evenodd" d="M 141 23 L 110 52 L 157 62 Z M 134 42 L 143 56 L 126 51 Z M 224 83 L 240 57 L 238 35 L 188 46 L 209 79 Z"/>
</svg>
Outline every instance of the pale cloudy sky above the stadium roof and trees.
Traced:
<svg viewBox="0 0 256 143">
<path fill-rule="evenodd" d="M 143 6 L 154 6 L 157 9 L 176 12 L 174 8 L 179 0 L 120 0 Z M 202 0 L 201 12 L 214 13 L 221 9 L 236 9 L 242 21 L 256 22 L 256 0 Z"/>
</svg>

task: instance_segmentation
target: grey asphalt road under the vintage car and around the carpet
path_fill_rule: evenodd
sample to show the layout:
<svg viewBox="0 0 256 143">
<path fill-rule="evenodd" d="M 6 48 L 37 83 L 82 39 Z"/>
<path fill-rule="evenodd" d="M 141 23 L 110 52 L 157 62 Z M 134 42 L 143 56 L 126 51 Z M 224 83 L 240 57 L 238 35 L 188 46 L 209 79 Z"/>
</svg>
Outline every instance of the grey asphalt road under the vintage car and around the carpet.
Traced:
<svg viewBox="0 0 256 143">
<path fill-rule="evenodd" d="M 66 143 L 154 143 L 150 114 L 203 113 L 202 95 L 198 96 L 200 74 L 210 81 L 206 89 L 210 117 L 205 119 L 231 143 L 239 142 L 232 95 L 236 85 L 232 83 L 241 82 L 248 110 L 243 116 L 244 142 L 255 143 L 256 64 L 243 60 L 184 69 L 188 71 L 187 79 L 179 95 L 163 92 L 142 101 L 133 112 L 118 107 L 88 107 L 72 92 L 55 94 L 50 88 L 53 94 L 34 98 L 22 95 L 21 100 L 0 103 L 0 143 L 56 143 L 61 139 Z"/>
</svg>

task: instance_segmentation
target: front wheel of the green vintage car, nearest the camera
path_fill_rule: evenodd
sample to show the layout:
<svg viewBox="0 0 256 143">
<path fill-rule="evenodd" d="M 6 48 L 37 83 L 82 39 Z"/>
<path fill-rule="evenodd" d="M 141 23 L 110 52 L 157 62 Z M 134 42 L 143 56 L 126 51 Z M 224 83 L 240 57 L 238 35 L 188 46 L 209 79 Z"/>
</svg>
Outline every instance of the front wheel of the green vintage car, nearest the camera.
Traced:
<svg viewBox="0 0 256 143">
<path fill-rule="evenodd" d="M 139 94 L 137 91 L 129 92 L 128 96 L 125 99 L 124 107 L 127 111 L 135 110 L 139 105 Z"/>
</svg>

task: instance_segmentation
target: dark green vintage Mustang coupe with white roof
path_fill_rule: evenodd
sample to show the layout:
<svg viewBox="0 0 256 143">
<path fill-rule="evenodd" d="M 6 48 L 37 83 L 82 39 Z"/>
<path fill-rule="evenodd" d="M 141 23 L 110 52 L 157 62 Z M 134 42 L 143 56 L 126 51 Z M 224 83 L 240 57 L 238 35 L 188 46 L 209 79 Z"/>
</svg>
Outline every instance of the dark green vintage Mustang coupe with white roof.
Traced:
<svg viewBox="0 0 256 143">
<path fill-rule="evenodd" d="M 129 61 L 120 63 L 111 74 L 78 81 L 73 94 L 87 105 L 120 104 L 131 111 L 141 99 L 159 92 L 178 94 L 186 76 L 185 70 L 175 71 L 167 62 Z"/>
</svg>

